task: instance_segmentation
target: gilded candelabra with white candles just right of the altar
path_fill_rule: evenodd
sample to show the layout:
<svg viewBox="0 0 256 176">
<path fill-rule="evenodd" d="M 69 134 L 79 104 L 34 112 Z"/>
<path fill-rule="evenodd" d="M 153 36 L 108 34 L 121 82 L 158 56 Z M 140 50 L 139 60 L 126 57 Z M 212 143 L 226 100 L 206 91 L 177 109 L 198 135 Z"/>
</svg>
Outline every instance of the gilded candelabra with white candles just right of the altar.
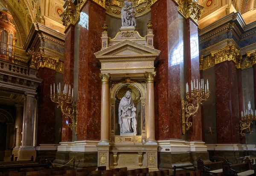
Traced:
<svg viewBox="0 0 256 176">
<path fill-rule="evenodd" d="M 204 79 L 198 82 L 198 79 L 194 82 L 191 81 L 191 92 L 189 92 L 189 84 L 186 84 L 186 99 L 181 99 L 181 117 L 182 117 L 182 134 L 184 135 L 186 130 L 192 126 L 193 122 L 190 120 L 198 111 L 200 105 L 209 97 L 209 82 L 204 85 Z M 189 103 L 188 101 L 191 101 Z"/>
</svg>

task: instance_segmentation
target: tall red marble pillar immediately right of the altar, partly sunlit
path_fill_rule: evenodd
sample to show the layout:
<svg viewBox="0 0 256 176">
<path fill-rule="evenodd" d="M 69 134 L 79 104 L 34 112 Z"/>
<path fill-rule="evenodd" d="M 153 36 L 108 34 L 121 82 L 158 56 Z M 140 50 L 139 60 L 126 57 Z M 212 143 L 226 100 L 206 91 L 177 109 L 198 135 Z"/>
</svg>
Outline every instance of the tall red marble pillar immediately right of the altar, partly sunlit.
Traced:
<svg viewBox="0 0 256 176">
<path fill-rule="evenodd" d="M 176 4 L 172 0 L 157 1 L 151 7 L 151 21 L 154 47 L 161 51 L 154 87 L 156 140 L 181 139 L 180 64 L 172 55 L 179 44 Z"/>
</svg>

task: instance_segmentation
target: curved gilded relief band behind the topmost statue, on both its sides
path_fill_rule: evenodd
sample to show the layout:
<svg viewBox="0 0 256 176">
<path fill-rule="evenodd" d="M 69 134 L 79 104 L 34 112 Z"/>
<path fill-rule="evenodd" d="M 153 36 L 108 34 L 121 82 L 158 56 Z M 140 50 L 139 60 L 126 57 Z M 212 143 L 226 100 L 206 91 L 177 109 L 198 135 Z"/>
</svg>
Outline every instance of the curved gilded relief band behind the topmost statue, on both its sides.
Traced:
<svg viewBox="0 0 256 176">
<path fill-rule="evenodd" d="M 150 11 L 152 0 L 130 0 L 136 7 L 136 17 L 140 17 Z M 121 18 L 121 9 L 124 6 L 124 0 L 106 0 L 107 14 Z"/>
</svg>

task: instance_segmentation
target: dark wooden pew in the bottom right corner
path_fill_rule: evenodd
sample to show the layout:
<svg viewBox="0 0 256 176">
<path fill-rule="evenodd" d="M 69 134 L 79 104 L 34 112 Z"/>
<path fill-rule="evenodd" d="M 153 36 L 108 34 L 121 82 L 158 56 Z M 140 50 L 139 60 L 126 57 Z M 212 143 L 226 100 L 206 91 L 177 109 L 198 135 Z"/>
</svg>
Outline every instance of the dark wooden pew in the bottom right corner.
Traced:
<svg viewBox="0 0 256 176">
<path fill-rule="evenodd" d="M 244 160 L 243 163 L 239 164 L 231 164 L 227 159 L 224 159 L 222 168 L 224 176 L 256 176 L 256 167 L 251 164 L 251 161 L 248 157 Z"/>
</svg>

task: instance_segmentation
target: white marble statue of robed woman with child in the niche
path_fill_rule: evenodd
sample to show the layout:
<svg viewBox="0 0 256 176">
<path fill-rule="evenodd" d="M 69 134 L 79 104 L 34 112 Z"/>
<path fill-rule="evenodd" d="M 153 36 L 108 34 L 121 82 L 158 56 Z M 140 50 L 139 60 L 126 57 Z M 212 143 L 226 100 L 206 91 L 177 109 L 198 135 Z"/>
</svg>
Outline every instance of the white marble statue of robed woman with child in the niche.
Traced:
<svg viewBox="0 0 256 176">
<path fill-rule="evenodd" d="M 121 135 L 137 135 L 136 107 L 131 98 L 131 91 L 127 91 L 118 107 L 119 126 Z"/>
</svg>

